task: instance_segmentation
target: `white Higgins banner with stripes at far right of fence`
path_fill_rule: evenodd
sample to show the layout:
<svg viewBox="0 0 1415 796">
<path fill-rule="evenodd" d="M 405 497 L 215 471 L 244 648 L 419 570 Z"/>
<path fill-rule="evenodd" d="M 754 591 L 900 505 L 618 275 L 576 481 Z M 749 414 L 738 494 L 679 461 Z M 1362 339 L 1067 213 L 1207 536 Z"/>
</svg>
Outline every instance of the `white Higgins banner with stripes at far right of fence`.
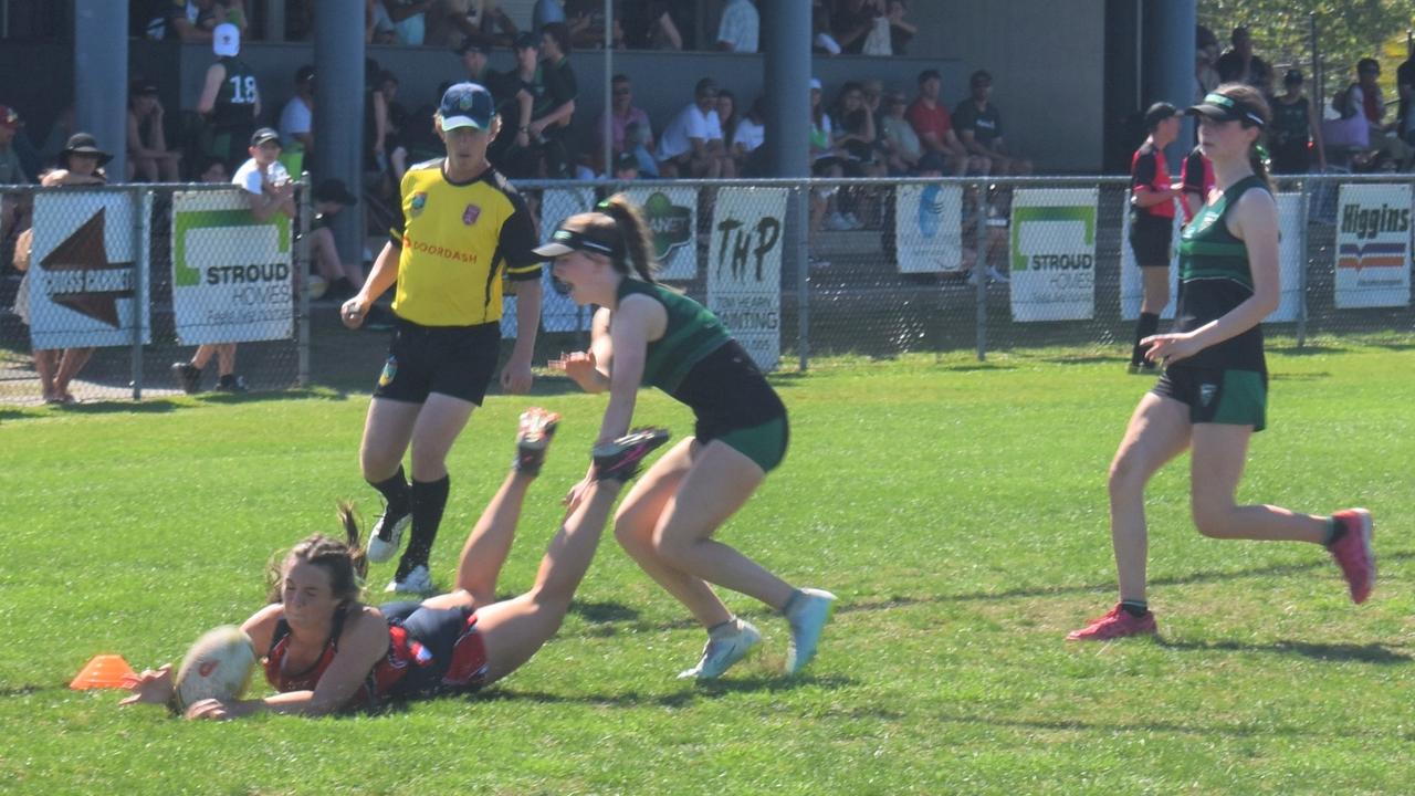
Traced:
<svg viewBox="0 0 1415 796">
<path fill-rule="evenodd" d="M 1341 186 L 1336 229 L 1336 306 L 1411 303 L 1411 187 Z"/>
</svg>

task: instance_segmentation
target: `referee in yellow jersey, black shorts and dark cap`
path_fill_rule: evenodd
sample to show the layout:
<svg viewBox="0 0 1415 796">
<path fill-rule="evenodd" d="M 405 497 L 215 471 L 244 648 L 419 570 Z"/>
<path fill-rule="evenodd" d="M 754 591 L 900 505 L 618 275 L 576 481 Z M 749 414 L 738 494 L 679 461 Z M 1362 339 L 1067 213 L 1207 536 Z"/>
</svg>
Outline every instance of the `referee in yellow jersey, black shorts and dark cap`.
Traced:
<svg viewBox="0 0 1415 796">
<path fill-rule="evenodd" d="M 427 554 L 447 506 L 447 452 L 481 405 L 501 344 L 502 276 L 516 282 L 516 344 L 501 373 L 508 392 L 531 390 L 531 351 L 541 324 L 541 259 L 525 201 L 487 161 L 501 119 L 491 93 L 464 82 L 447 89 L 434 118 L 447 157 L 403 176 L 402 224 L 389 229 L 364 289 L 341 307 L 358 329 L 395 282 L 398 316 L 388 363 L 364 423 L 359 466 L 388 506 L 368 558 L 388 561 L 403 530 L 412 538 L 391 592 L 430 592 Z M 413 480 L 403 474 L 412 445 Z"/>
</svg>

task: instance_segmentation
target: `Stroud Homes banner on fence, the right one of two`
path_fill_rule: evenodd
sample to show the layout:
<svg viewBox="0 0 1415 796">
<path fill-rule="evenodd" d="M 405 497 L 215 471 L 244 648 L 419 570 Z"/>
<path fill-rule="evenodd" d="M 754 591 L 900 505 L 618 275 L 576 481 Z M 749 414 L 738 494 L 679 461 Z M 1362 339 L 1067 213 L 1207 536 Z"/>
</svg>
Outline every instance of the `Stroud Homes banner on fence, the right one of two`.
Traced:
<svg viewBox="0 0 1415 796">
<path fill-rule="evenodd" d="M 1095 314 L 1097 188 L 1017 190 L 1012 198 L 1012 319 Z"/>
</svg>

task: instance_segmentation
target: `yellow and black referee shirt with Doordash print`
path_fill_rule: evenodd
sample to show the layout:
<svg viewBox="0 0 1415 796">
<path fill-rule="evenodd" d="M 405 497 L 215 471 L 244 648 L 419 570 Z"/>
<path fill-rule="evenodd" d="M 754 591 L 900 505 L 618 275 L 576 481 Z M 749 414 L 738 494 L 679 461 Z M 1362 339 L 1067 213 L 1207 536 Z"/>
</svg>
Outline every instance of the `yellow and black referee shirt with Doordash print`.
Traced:
<svg viewBox="0 0 1415 796">
<path fill-rule="evenodd" d="M 515 188 L 487 169 L 453 183 L 439 157 L 403 174 L 402 222 L 389 237 L 398 256 L 393 312 L 422 326 L 501 320 L 501 278 L 539 279 L 531 212 Z"/>
</svg>

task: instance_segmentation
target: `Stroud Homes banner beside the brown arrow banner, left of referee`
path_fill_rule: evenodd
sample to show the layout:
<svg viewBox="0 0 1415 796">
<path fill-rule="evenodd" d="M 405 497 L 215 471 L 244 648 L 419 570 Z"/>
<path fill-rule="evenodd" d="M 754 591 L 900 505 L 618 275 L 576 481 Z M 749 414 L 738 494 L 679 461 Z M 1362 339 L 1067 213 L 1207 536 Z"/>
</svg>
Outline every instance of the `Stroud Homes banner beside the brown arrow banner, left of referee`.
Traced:
<svg viewBox="0 0 1415 796">
<path fill-rule="evenodd" d="M 173 314 L 188 346 L 294 336 L 290 220 L 242 191 L 173 194 Z"/>
</svg>

